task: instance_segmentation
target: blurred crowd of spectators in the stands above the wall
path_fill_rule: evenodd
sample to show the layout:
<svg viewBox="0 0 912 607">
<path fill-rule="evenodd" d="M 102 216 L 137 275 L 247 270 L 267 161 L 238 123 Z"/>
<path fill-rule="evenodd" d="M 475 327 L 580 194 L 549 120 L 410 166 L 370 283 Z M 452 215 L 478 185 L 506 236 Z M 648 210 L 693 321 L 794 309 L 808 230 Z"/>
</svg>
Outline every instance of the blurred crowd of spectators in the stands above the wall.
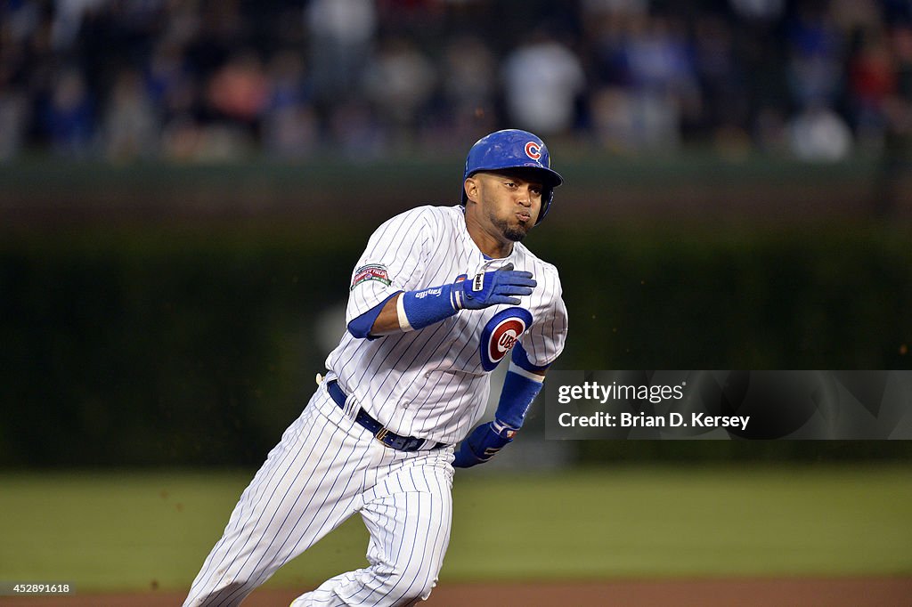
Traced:
<svg viewBox="0 0 912 607">
<path fill-rule="evenodd" d="M 889 153 L 912 0 L 0 0 L 0 161 Z"/>
</svg>

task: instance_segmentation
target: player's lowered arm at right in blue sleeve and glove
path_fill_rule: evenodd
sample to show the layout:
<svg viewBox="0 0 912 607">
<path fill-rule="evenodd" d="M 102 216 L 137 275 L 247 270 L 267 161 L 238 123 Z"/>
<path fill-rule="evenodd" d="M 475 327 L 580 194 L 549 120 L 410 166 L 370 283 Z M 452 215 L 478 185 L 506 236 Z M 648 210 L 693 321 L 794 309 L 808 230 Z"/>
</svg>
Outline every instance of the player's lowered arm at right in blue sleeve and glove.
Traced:
<svg viewBox="0 0 912 607">
<path fill-rule="evenodd" d="M 544 369 L 529 371 L 517 365 L 517 360 L 528 360 L 522 348 L 523 345 L 518 344 L 513 351 L 513 362 L 503 380 L 494 420 L 476 427 L 462 441 L 453 460 L 456 468 L 472 468 L 493 458 L 523 427 L 529 406 L 542 391 Z"/>
</svg>

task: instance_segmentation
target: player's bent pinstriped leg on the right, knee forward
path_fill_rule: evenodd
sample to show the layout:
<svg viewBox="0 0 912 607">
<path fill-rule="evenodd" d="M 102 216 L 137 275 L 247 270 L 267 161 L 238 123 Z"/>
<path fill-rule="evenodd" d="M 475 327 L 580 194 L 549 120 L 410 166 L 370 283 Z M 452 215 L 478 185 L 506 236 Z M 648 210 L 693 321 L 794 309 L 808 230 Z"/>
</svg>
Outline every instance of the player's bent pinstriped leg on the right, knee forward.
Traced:
<svg viewBox="0 0 912 607">
<path fill-rule="evenodd" d="M 411 605 L 428 598 L 450 541 L 451 456 L 420 456 L 366 492 L 370 566 L 307 592 L 293 607 Z"/>
</svg>

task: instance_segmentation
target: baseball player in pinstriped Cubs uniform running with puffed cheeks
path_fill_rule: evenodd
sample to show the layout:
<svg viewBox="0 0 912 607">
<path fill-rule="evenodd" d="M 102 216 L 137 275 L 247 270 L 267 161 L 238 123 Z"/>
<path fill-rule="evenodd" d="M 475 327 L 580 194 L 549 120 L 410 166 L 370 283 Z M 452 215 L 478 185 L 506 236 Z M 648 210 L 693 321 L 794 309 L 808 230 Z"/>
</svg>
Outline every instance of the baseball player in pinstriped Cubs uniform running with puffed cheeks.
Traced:
<svg viewBox="0 0 912 607">
<path fill-rule="evenodd" d="M 459 205 L 412 209 L 374 232 L 326 378 L 244 490 L 184 605 L 240 603 L 356 512 L 368 566 L 292 606 L 428 598 L 450 540 L 453 467 L 513 440 L 564 347 L 557 270 L 520 242 L 561 181 L 541 139 L 497 131 L 469 151 Z M 475 427 L 507 355 L 494 418 Z"/>
</svg>

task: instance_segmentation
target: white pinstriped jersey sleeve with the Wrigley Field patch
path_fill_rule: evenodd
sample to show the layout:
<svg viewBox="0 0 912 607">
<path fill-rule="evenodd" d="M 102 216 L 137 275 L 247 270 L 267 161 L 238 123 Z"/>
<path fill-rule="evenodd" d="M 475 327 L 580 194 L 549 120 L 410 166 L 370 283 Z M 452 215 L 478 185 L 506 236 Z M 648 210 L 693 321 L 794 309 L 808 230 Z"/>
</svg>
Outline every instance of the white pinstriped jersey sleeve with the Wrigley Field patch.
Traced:
<svg viewBox="0 0 912 607">
<path fill-rule="evenodd" d="M 351 275 L 346 323 L 418 284 L 434 236 L 429 212 L 401 213 L 370 236 Z"/>
</svg>

